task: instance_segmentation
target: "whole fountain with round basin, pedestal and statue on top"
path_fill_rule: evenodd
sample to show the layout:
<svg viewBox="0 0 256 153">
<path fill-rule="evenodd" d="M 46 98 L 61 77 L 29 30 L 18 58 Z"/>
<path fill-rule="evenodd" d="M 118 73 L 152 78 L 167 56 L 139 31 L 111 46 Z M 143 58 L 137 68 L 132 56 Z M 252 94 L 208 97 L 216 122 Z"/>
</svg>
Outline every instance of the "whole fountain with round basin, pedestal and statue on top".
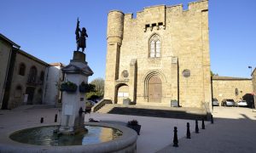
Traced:
<svg viewBox="0 0 256 153">
<path fill-rule="evenodd" d="M 85 61 L 88 36 L 85 28 L 80 31 L 79 20 L 76 35 L 78 48 L 69 65 L 62 69 L 65 80 L 61 84 L 60 125 L 29 127 L 11 133 L 9 139 L 14 141 L 0 144 L 0 152 L 136 152 L 137 133 L 130 128 L 106 122 L 84 123 L 85 99 L 80 86 L 88 82 L 93 71 Z"/>
</svg>

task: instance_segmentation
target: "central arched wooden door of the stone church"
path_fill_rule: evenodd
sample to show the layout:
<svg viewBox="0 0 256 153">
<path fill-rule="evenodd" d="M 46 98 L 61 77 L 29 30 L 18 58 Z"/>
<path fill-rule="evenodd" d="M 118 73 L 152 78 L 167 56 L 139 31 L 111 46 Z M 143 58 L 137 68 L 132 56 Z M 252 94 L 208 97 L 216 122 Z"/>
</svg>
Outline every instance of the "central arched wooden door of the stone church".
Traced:
<svg viewBox="0 0 256 153">
<path fill-rule="evenodd" d="M 162 82 L 160 77 L 153 76 L 148 80 L 148 102 L 161 102 Z"/>
</svg>

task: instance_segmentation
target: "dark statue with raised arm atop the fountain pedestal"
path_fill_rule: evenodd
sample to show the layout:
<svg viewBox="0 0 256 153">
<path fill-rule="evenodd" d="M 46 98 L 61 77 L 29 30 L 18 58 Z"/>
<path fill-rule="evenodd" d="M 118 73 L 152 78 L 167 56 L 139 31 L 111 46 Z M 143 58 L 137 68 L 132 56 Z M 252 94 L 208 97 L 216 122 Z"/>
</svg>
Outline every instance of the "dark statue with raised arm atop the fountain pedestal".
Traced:
<svg viewBox="0 0 256 153">
<path fill-rule="evenodd" d="M 78 18 L 77 29 L 75 33 L 76 33 L 76 40 L 77 40 L 77 51 L 79 51 L 79 48 L 82 48 L 82 52 L 84 52 L 84 48 L 86 48 L 86 37 L 88 37 L 88 35 L 84 27 L 82 28 L 82 31 L 80 30 L 79 18 Z"/>
</svg>

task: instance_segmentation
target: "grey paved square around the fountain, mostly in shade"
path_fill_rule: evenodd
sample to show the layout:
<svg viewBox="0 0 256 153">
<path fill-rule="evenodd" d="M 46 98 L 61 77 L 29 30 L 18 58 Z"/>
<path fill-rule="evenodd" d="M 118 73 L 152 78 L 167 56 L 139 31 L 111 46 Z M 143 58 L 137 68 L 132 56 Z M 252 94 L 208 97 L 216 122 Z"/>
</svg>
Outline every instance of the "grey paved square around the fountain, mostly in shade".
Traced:
<svg viewBox="0 0 256 153">
<path fill-rule="evenodd" d="M 31 106 L 30 106 L 31 107 Z M 23 106 L 12 111 L 0 111 L 0 150 L 7 144 L 18 144 L 8 139 L 9 134 L 20 128 L 54 124 L 57 108 Z M 216 107 L 214 124 L 206 123 L 206 129 L 195 133 L 195 121 L 146 116 L 113 114 L 86 114 L 100 122 L 125 124 L 137 119 L 142 125 L 137 139 L 137 152 L 256 152 L 256 112 L 247 108 Z M 40 118 L 44 117 L 44 123 Z M 60 119 L 59 119 L 60 121 Z M 186 123 L 190 123 L 191 139 L 185 139 Z M 172 147 L 173 127 L 177 127 L 179 147 Z M 2 149 L 1 149 L 2 148 Z M 1 151 L 0 151 L 1 152 Z"/>
</svg>

